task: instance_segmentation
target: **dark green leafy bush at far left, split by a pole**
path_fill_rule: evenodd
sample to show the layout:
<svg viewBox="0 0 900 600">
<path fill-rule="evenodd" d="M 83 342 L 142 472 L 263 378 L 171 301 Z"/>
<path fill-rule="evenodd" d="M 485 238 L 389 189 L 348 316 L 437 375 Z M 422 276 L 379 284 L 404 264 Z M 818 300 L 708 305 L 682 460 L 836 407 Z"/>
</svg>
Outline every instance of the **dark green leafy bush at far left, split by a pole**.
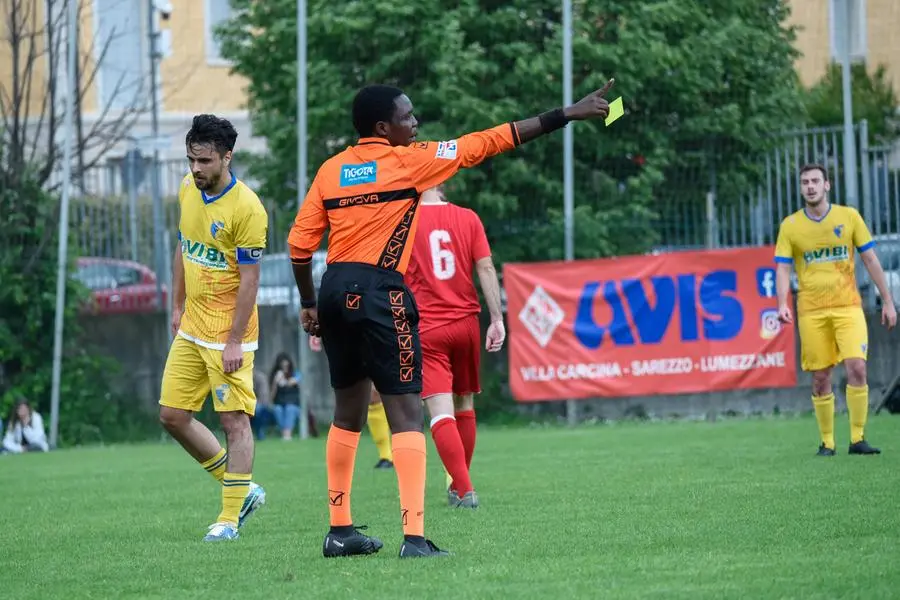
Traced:
<svg viewBox="0 0 900 600">
<path fill-rule="evenodd" d="M 16 398 L 24 396 L 49 427 L 59 202 L 30 173 L 19 175 L 16 186 L 0 186 L 6 219 L 0 230 L 0 418 L 5 423 Z M 85 299 L 86 290 L 69 279 L 61 444 L 128 439 L 142 425 L 137 411 L 110 393 L 116 364 L 92 351 L 81 335 L 78 316 Z"/>
</svg>

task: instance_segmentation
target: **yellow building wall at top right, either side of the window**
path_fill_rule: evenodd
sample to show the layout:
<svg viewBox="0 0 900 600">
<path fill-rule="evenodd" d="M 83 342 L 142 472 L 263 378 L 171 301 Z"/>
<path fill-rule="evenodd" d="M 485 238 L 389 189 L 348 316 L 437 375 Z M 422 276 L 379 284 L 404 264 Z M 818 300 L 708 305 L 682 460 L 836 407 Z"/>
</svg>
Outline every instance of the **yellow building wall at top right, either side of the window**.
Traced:
<svg viewBox="0 0 900 600">
<path fill-rule="evenodd" d="M 790 0 L 790 24 L 800 28 L 797 71 L 805 86 L 816 83 L 831 61 L 828 0 Z M 887 66 L 894 89 L 900 94 L 900 0 L 866 0 L 866 35 L 870 69 Z"/>
</svg>

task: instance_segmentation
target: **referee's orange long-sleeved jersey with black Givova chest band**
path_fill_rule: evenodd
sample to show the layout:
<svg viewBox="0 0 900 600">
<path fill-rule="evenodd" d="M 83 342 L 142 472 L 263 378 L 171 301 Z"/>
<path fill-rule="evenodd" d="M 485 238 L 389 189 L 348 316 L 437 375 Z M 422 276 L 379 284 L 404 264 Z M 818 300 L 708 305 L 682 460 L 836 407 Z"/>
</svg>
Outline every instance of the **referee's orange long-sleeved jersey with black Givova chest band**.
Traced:
<svg viewBox="0 0 900 600">
<path fill-rule="evenodd" d="M 513 123 L 456 140 L 409 146 L 391 146 L 382 138 L 360 139 L 325 161 L 316 173 L 288 235 L 291 260 L 310 261 L 330 227 L 329 264 L 365 263 L 404 273 L 419 194 L 518 143 Z"/>
</svg>

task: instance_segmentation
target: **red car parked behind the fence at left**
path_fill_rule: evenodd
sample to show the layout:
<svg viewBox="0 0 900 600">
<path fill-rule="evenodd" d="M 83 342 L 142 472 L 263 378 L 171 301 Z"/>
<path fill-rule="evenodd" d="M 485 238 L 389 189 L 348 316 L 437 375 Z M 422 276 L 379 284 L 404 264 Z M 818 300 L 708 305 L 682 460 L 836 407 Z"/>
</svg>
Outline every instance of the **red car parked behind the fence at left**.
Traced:
<svg viewBox="0 0 900 600">
<path fill-rule="evenodd" d="M 157 298 L 156 273 L 141 263 L 103 257 L 81 257 L 72 277 L 91 290 L 93 313 L 148 313 L 165 310 L 169 290 Z"/>
</svg>

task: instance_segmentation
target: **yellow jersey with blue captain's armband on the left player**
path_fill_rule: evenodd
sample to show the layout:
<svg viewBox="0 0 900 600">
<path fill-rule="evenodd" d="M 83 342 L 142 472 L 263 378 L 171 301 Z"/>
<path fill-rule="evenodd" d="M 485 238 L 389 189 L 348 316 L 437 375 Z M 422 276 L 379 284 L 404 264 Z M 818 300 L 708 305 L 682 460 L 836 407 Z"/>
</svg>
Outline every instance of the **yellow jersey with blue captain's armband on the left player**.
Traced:
<svg viewBox="0 0 900 600">
<path fill-rule="evenodd" d="M 233 175 L 218 196 L 197 189 L 188 175 L 178 192 L 178 239 L 186 301 L 179 334 L 206 348 L 223 350 L 237 306 L 239 264 L 258 263 L 266 247 L 269 218 L 259 197 Z M 257 348 L 256 305 L 242 348 Z"/>
</svg>

